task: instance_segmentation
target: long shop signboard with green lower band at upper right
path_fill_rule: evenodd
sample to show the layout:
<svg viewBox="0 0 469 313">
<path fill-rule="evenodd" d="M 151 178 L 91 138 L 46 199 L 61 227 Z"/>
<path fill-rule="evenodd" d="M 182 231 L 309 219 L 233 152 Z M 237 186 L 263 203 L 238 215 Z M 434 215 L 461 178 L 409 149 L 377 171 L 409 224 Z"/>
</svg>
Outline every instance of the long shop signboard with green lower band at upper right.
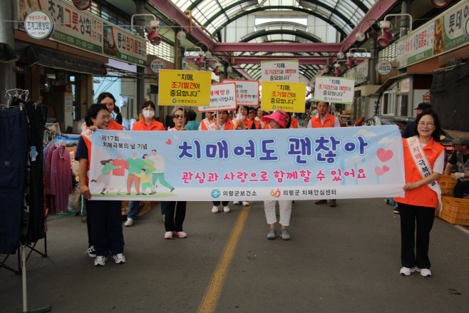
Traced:
<svg viewBox="0 0 469 313">
<path fill-rule="evenodd" d="M 469 1 L 463 1 L 412 31 L 397 42 L 396 67 L 403 68 L 467 45 L 468 19 Z"/>
</svg>

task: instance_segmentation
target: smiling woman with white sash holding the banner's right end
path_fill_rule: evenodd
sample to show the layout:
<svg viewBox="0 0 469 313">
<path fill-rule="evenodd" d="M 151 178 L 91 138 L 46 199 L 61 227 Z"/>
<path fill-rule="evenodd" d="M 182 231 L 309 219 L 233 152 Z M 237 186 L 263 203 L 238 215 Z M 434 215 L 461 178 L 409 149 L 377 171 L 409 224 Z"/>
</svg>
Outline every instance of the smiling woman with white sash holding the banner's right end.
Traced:
<svg viewBox="0 0 469 313">
<path fill-rule="evenodd" d="M 405 197 L 395 197 L 401 215 L 401 275 L 420 272 L 431 277 L 428 246 L 430 231 L 439 205 L 445 148 L 436 142 L 440 128 L 433 111 L 423 111 L 416 118 L 418 135 L 403 138 L 404 166 L 406 170 Z M 417 225 L 417 236 L 416 236 Z M 414 252 L 414 249 L 416 252 Z"/>
</svg>

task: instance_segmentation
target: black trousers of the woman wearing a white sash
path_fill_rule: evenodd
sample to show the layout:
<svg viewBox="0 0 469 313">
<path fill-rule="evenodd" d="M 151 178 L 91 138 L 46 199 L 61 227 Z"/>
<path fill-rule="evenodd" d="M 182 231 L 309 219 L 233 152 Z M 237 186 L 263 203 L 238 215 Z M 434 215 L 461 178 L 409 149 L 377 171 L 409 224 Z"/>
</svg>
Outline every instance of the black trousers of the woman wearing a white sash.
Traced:
<svg viewBox="0 0 469 313">
<path fill-rule="evenodd" d="M 401 215 L 401 262 L 403 267 L 429 269 L 428 246 L 435 219 L 435 207 L 405 205 L 398 202 Z M 417 235 L 416 235 L 417 226 Z M 415 249 L 415 252 L 414 252 Z"/>
</svg>

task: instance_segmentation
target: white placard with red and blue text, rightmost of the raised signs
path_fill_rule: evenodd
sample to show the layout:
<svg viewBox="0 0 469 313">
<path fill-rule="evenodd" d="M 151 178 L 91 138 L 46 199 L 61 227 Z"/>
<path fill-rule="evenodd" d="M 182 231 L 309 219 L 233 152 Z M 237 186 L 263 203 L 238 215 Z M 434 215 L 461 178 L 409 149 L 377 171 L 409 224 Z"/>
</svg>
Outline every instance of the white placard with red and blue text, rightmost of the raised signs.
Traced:
<svg viewBox="0 0 469 313">
<path fill-rule="evenodd" d="M 351 104 L 354 88 L 354 78 L 316 76 L 314 101 Z"/>
</svg>

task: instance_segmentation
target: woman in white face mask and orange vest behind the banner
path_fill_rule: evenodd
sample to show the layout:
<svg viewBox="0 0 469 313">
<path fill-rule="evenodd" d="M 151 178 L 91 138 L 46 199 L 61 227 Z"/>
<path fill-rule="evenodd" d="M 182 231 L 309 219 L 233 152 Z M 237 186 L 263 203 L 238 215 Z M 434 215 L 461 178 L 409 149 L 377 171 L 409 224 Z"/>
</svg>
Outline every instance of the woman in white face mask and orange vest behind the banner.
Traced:
<svg viewBox="0 0 469 313">
<path fill-rule="evenodd" d="M 142 120 L 139 120 L 136 123 L 133 123 L 132 130 L 165 130 L 163 123 L 155 120 L 155 103 L 153 101 L 145 101 L 142 107 Z M 153 181 L 153 174 L 150 173 L 150 182 Z M 111 180 L 112 183 L 112 180 Z M 141 201 L 130 201 L 129 209 L 127 212 L 127 220 L 125 221 L 124 226 L 130 227 L 133 225 L 135 217 L 137 217 L 138 207 L 140 206 Z M 161 214 L 165 214 L 164 204 L 160 201 Z M 163 218 L 164 221 L 164 218 Z"/>
</svg>

